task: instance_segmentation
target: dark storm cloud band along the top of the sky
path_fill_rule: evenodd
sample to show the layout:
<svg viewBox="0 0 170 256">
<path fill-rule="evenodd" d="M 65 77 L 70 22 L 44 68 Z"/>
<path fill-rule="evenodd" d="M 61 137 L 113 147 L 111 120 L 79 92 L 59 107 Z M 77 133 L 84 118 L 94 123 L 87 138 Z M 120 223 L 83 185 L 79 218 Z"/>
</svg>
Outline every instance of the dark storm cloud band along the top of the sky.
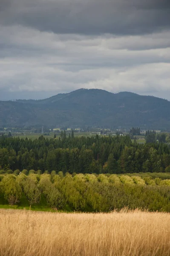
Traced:
<svg viewBox="0 0 170 256">
<path fill-rule="evenodd" d="M 54 33 L 142 35 L 169 29 L 170 0 L 0 0 L 0 23 Z"/>
</svg>

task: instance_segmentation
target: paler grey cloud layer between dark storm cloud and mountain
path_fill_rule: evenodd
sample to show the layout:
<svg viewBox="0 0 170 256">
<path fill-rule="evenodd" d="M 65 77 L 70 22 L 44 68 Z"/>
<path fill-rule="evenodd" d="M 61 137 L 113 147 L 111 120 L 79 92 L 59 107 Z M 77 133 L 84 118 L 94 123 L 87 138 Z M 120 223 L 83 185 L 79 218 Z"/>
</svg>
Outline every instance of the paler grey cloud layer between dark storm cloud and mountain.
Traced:
<svg viewBox="0 0 170 256">
<path fill-rule="evenodd" d="M 169 32 L 59 35 L 15 25 L 1 27 L 0 38 L 0 99 L 6 91 L 10 99 L 45 98 L 80 87 L 166 97 L 170 90 Z"/>
</svg>

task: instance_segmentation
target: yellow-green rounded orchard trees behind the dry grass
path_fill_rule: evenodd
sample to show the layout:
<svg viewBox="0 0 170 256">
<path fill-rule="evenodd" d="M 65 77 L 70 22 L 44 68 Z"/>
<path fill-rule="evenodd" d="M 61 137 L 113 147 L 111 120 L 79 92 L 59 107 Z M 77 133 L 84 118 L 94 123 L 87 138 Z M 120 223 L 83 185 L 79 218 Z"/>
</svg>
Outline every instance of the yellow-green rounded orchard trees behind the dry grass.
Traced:
<svg viewBox="0 0 170 256">
<path fill-rule="evenodd" d="M 170 180 L 138 176 L 77 174 L 54 172 L 43 175 L 1 175 L 0 194 L 9 204 L 27 198 L 30 207 L 42 197 L 45 206 L 72 210 L 109 212 L 114 209 L 148 209 L 170 212 Z M 44 200 L 43 200 L 44 202 Z"/>
</svg>

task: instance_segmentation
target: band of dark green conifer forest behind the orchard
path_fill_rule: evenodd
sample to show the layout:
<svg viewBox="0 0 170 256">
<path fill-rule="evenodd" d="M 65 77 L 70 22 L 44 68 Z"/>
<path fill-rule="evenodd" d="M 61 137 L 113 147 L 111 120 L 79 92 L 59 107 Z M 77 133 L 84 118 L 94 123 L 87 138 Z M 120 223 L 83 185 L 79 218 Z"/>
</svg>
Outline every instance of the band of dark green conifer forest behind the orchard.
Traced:
<svg viewBox="0 0 170 256">
<path fill-rule="evenodd" d="M 0 173 L 40 169 L 64 173 L 169 172 L 167 143 L 132 143 L 129 136 L 36 140 L 0 137 Z"/>
</svg>

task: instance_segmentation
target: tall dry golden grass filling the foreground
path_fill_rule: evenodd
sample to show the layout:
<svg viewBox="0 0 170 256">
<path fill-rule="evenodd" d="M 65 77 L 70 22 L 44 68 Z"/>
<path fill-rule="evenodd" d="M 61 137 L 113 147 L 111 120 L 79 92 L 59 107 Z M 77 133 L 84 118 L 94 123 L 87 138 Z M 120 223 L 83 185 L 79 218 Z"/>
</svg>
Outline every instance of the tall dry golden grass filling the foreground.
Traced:
<svg viewBox="0 0 170 256">
<path fill-rule="evenodd" d="M 170 214 L 0 210 L 0 256 L 170 255 Z"/>
</svg>

